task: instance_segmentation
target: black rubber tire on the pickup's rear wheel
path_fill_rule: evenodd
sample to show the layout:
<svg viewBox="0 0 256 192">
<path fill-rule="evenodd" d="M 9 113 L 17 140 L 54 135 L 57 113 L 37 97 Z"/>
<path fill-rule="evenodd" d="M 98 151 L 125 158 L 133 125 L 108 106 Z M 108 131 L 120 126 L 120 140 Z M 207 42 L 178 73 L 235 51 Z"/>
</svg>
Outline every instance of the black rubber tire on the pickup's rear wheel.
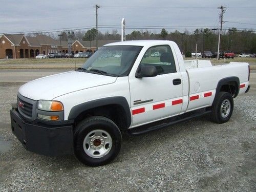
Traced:
<svg viewBox="0 0 256 192">
<path fill-rule="evenodd" d="M 225 113 L 223 113 L 223 116 L 222 116 L 222 112 L 221 112 L 221 108 L 223 108 L 223 102 L 225 101 L 229 101 L 229 112 L 226 114 L 225 116 Z M 214 105 L 212 105 L 212 112 L 211 112 L 211 117 L 212 117 L 212 120 L 216 123 L 225 123 L 227 122 L 231 115 L 232 115 L 232 112 L 233 112 L 233 106 L 234 106 L 234 102 L 233 102 L 233 98 L 231 96 L 230 93 L 228 92 L 220 92 L 218 95 L 217 95 L 217 98 L 216 98 L 216 102 Z M 225 108 L 226 109 L 226 108 Z"/>
</svg>

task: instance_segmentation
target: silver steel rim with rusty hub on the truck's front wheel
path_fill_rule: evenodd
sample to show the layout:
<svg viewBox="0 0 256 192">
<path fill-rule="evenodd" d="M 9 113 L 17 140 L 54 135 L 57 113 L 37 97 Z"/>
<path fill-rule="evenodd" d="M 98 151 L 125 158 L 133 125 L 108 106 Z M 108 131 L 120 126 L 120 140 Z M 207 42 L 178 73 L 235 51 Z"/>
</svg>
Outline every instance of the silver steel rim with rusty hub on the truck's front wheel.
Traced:
<svg viewBox="0 0 256 192">
<path fill-rule="evenodd" d="M 83 150 L 92 158 L 101 158 L 108 154 L 112 147 L 112 138 L 104 130 L 93 130 L 83 140 Z"/>
</svg>

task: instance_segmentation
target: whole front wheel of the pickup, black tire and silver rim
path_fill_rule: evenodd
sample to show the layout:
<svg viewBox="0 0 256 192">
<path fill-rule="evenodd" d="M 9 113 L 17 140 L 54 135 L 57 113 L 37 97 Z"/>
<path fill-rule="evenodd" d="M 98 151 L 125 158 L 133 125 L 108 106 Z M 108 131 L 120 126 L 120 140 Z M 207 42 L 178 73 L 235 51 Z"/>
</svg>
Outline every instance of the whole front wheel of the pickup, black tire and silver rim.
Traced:
<svg viewBox="0 0 256 192">
<path fill-rule="evenodd" d="M 110 119 L 93 116 L 81 121 L 74 131 L 76 158 L 89 166 L 105 165 L 120 152 L 122 135 Z"/>
</svg>

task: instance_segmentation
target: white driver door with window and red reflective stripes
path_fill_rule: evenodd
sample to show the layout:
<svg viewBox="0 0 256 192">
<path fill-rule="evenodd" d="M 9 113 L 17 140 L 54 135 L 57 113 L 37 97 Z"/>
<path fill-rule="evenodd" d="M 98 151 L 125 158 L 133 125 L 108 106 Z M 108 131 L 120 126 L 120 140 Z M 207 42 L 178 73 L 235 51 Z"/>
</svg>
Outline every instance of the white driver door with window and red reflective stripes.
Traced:
<svg viewBox="0 0 256 192">
<path fill-rule="evenodd" d="M 141 66 L 154 66 L 157 76 L 129 76 L 132 127 L 167 118 L 181 112 L 182 81 L 177 72 L 172 49 L 168 45 L 154 46 L 144 54 Z"/>
</svg>

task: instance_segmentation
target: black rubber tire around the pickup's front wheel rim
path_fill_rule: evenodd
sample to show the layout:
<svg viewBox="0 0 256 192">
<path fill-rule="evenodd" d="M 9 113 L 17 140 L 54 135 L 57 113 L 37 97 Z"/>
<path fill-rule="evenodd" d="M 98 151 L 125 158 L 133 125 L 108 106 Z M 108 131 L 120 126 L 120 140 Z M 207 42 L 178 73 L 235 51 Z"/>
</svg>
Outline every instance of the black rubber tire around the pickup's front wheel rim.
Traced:
<svg viewBox="0 0 256 192">
<path fill-rule="evenodd" d="M 107 132 L 112 139 L 110 151 L 103 157 L 94 158 L 89 156 L 84 150 L 83 142 L 89 133 L 94 130 Z M 96 140 L 96 139 L 95 139 Z M 94 142 L 93 142 L 94 143 Z M 103 143 L 103 142 L 102 142 Z M 74 130 L 74 154 L 83 164 L 89 166 L 101 166 L 108 164 L 119 154 L 122 145 L 122 135 L 118 126 L 110 119 L 101 116 L 92 116 L 82 120 Z M 87 145 L 88 148 L 91 147 Z M 102 146 L 103 149 L 105 146 Z M 92 154 L 91 154 L 92 155 Z"/>
</svg>

